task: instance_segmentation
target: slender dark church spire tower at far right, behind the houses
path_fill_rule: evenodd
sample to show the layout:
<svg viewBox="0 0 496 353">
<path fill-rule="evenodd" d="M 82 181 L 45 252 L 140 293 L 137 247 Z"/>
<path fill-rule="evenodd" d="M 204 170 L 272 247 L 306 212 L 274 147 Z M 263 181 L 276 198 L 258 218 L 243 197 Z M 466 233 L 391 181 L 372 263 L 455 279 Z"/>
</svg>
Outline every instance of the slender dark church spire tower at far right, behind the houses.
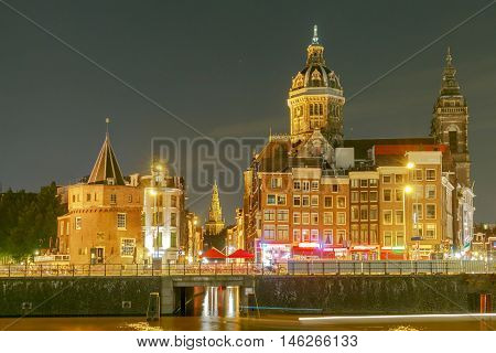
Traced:
<svg viewBox="0 0 496 353">
<path fill-rule="evenodd" d="M 438 143 L 450 147 L 457 182 L 470 186 L 468 107 L 460 90 L 452 61 L 451 51 L 448 49 L 443 81 L 433 109 L 431 135 Z"/>
</svg>

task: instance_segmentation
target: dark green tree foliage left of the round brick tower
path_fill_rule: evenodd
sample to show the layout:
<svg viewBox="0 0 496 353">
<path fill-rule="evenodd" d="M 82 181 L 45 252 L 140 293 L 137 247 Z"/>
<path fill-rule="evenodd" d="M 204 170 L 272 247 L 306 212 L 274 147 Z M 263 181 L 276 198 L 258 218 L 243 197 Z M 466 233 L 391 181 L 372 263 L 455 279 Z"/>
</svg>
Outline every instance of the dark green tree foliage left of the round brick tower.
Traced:
<svg viewBox="0 0 496 353">
<path fill-rule="evenodd" d="M 19 260 L 47 248 L 64 212 L 55 183 L 39 193 L 9 190 L 0 195 L 0 257 Z"/>
</svg>

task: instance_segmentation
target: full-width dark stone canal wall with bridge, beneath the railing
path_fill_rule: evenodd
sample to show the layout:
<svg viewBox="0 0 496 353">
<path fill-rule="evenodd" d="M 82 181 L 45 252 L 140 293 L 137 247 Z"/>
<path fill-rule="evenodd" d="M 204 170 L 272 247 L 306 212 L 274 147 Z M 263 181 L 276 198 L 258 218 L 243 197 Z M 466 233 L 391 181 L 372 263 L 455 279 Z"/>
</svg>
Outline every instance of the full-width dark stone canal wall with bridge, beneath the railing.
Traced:
<svg viewBox="0 0 496 353">
<path fill-rule="evenodd" d="M 479 293 L 496 307 L 495 282 L 495 275 L 0 278 L 0 317 L 144 315 L 150 292 L 172 314 L 195 286 L 238 286 L 241 307 L 268 312 L 478 312 Z"/>
</svg>

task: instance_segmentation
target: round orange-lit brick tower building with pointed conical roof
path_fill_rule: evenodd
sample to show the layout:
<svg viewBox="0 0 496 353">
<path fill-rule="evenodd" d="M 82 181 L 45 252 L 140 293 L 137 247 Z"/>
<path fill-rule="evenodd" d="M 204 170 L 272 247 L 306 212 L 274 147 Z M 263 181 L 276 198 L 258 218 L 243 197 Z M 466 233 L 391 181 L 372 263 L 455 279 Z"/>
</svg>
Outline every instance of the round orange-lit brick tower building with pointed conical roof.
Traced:
<svg viewBox="0 0 496 353">
<path fill-rule="evenodd" d="M 72 264 L 142 263 L 142 189 L 125 181 L 107 133 L 88 181 L 67 186 L 60 253 Z"/>
</svg>

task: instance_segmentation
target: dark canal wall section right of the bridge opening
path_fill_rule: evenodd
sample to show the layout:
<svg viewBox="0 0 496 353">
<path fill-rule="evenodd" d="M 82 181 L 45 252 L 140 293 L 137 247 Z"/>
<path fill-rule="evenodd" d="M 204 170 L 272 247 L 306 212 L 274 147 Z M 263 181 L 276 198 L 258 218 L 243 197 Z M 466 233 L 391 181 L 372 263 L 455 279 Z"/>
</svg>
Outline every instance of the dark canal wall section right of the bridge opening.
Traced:
<svg viewBox="0 0 496 353">
<path fill-rule="evenodd" d="M 495 280 L 495 275 L 274 276 L 258 277 L 255 292 L 256 303 L 270 311 L 289 308 L 291 312 L 334 314 L 479 312 L 481 293 L 492 295 L 494 311 Z"/>
</svg>

